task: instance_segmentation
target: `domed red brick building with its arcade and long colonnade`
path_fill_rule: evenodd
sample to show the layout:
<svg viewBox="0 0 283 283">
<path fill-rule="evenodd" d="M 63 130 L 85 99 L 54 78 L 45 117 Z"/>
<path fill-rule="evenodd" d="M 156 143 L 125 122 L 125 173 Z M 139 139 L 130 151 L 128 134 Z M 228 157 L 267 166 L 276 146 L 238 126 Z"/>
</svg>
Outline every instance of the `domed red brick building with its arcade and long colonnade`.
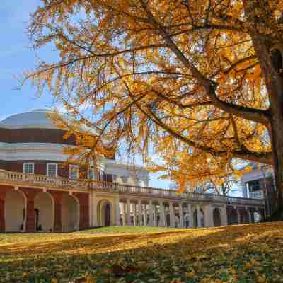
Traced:
<svg viewBox="0 0 283 283">
<path fill-rule="evenodd" d="M 81 178 L 67 160 L 64 139 L 48 110 L 0 122 L 0 231 L 76 231 L 96 226 L 224 226 L 265 215 L 263 200 L 149 187 L 139 166 L 101 161 L 99 174 Z M 88 176 L 89 177 L 89 176 Z M 91 179 L 91 180 L 90 180 Z"/>
</svg>

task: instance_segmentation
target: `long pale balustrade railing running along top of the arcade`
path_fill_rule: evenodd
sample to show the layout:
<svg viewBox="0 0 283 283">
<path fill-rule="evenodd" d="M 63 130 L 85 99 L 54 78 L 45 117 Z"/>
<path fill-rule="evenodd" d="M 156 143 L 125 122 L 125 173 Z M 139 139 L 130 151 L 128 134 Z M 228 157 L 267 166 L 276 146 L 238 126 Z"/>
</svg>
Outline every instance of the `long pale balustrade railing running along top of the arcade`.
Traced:
<svg viewBox="0 0 283 283">
<path fill-rule="evenodd" d="M 264 206 L 265 201 L 243 197 L 229 197 L 225 195 L 201 194 L 197 192 L 183 192 L 178 194 L 175 190 L 164 190 L 154 187 L 139 187 L 122 185 L 102 181 L 72 180 L 68 178 L 50 178 L 45 175 L 33 175 L 5 171 L 0 169 L 0 181 L 13 185 L 34 185 L 47 188 L 64 188 L 67 190 L 117 192 L 120 195 L 137 195 L 142 197 L 166 198 L 169 200 L 192 200 L 195 202 L 221 202 L 231 205 Z"/>
</svg>

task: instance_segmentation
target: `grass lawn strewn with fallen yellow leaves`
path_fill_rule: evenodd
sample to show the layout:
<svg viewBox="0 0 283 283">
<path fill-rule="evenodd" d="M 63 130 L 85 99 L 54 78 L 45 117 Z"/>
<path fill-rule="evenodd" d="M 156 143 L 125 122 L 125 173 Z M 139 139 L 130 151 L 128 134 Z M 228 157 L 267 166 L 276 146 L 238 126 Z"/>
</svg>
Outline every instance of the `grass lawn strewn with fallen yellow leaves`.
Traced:
<svg viewBox="0 0 283 283">
<path fill-rule="evenodd" d="M 0 282 L 283 282 L 283 222 L 0 233 Z"/>
</svg>

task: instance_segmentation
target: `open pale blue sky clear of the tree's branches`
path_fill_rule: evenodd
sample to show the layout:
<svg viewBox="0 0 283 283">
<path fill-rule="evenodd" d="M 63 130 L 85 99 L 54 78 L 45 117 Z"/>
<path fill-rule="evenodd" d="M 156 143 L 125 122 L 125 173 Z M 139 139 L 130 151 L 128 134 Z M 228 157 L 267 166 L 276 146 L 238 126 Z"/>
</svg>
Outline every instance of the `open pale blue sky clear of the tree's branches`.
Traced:
<svg viewBox="0 0 283 283">
<path fill-rule="evenodd" d="M 53 105 L 52 96 L 44 93 L 38 97 L 29 81 L 21 86 L 23 71 L 33 70 L 38 57 L 52 62 L 56 56 L 51 47 L 37 53 L 31 48 L 27 28 L 30 13 L 39 4 L 40 0 L 0 1 L 0 120 L 16 113 L 51 108 Z M 158 174 L 151 173 L 150 179 L 151 187 L 169 187 L 170 182 L 158 180 Z"/>
</svg>

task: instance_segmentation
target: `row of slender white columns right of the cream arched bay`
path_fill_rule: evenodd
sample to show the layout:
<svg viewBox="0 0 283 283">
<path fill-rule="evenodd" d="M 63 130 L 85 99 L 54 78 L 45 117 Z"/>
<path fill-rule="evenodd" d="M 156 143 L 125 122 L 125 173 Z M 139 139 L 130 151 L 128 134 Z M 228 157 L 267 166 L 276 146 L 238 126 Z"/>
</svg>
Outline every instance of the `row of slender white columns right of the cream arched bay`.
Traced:
<svg viewBox="0 0 283 283">
<path fill-rule="evenodd" d="M 226 226 L 226 205 L 120 200 L 120 226 L 192 228 Z"/>
</svg>

